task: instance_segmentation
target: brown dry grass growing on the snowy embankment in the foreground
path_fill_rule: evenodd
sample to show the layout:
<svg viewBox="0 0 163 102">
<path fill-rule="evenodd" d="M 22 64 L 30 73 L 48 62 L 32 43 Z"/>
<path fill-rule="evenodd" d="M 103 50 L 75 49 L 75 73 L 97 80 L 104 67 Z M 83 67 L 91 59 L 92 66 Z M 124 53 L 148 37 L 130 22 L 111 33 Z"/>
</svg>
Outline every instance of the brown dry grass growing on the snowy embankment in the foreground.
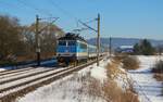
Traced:
<svg viewBox="0 0 163 102">
<path fill-rule="evenodd" d="M 75 76 L 74 79 L 78 77 L 77 81 L 82 84 L 78 94 L 86 93 L 91 99 L 102 99 L 105 102 L 139 102 L 131 88 L 126 87 L 123 90 L 114 80 L 121 76 L 124 77 L 124 82 L 131 85 L 130 80 L 126 79 L 126 73 L 117 68 L 120 64 L 121 62 L 113 61 L 112 64 L 108 65 L 108 79 L 103 82 L 91 77 L 89 73 L 82 77 Z"/>
</svg>

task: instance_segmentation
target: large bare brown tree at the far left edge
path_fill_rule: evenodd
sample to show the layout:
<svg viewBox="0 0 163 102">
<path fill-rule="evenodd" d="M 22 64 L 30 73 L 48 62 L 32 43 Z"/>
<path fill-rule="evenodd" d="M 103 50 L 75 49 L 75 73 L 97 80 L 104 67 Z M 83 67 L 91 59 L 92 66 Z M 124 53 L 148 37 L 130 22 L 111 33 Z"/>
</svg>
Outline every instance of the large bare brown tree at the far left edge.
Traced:
<svg viewBox="0 0 163 102">
<path fill-rule="evenodd" d="M 21 35 L 18 20 L 0 15 L 0 59 L 8 60 L 23 50 L 23 36 Z"/>
</svg>

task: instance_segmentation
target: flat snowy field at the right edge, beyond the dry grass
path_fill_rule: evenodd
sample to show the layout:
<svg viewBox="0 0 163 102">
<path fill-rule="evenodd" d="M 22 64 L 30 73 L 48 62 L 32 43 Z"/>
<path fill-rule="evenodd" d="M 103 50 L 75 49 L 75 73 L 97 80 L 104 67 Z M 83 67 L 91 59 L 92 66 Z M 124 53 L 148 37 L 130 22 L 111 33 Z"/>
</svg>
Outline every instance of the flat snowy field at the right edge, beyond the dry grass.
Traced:
<svg viewBox="0 0 163 102">
<path fill-rule="evenodd" d="M 150 72 L 152 66 L 163 56 L 138 56 L 140 68 L 129 71 L 135 80 L 136 91 L 139 93 L 141 102 L 163 102 L 163 81 L 156 81 Z"/>
</svg>

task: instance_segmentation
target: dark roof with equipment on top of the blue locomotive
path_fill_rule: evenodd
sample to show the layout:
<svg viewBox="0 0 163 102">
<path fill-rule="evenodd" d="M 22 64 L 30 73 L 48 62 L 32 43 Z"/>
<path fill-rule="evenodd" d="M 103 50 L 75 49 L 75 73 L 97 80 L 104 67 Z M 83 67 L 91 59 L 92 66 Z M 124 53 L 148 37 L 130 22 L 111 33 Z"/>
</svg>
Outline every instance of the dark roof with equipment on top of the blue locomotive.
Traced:
<svg viewBox="0 0 163 102">
<path fill-rule="evenodd" d="M 80 37 L 78 34 L 73 33 L 65 34 L 65 36 L 59 38 L 59 40 L 80 40 L 86 42 L 86 40 L 83 37 Z"/>
</svg>

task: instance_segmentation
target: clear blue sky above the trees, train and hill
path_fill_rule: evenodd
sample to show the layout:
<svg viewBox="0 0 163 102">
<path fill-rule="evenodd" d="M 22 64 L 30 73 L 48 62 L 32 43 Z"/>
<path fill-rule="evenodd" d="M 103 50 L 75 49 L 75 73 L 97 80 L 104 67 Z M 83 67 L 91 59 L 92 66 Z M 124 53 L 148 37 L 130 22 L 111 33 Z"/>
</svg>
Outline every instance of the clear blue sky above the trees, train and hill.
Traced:
<svg viewBox="0 0 163 102">
<path fill-rule="evenodd" d="M 0 14 L 16 16 L 23 25 L 34 23 L 36 14 L 52 14 L 65 31 L 82 26 L 76 18 L 87 22 L 98 13 L 102 37 L 163 39 L 163 0 L 0 0 Z M 96 22 L 90 26 L 96 27 Z M 96 37 L 91 30 L 80 34 Z"/>
</svg>

